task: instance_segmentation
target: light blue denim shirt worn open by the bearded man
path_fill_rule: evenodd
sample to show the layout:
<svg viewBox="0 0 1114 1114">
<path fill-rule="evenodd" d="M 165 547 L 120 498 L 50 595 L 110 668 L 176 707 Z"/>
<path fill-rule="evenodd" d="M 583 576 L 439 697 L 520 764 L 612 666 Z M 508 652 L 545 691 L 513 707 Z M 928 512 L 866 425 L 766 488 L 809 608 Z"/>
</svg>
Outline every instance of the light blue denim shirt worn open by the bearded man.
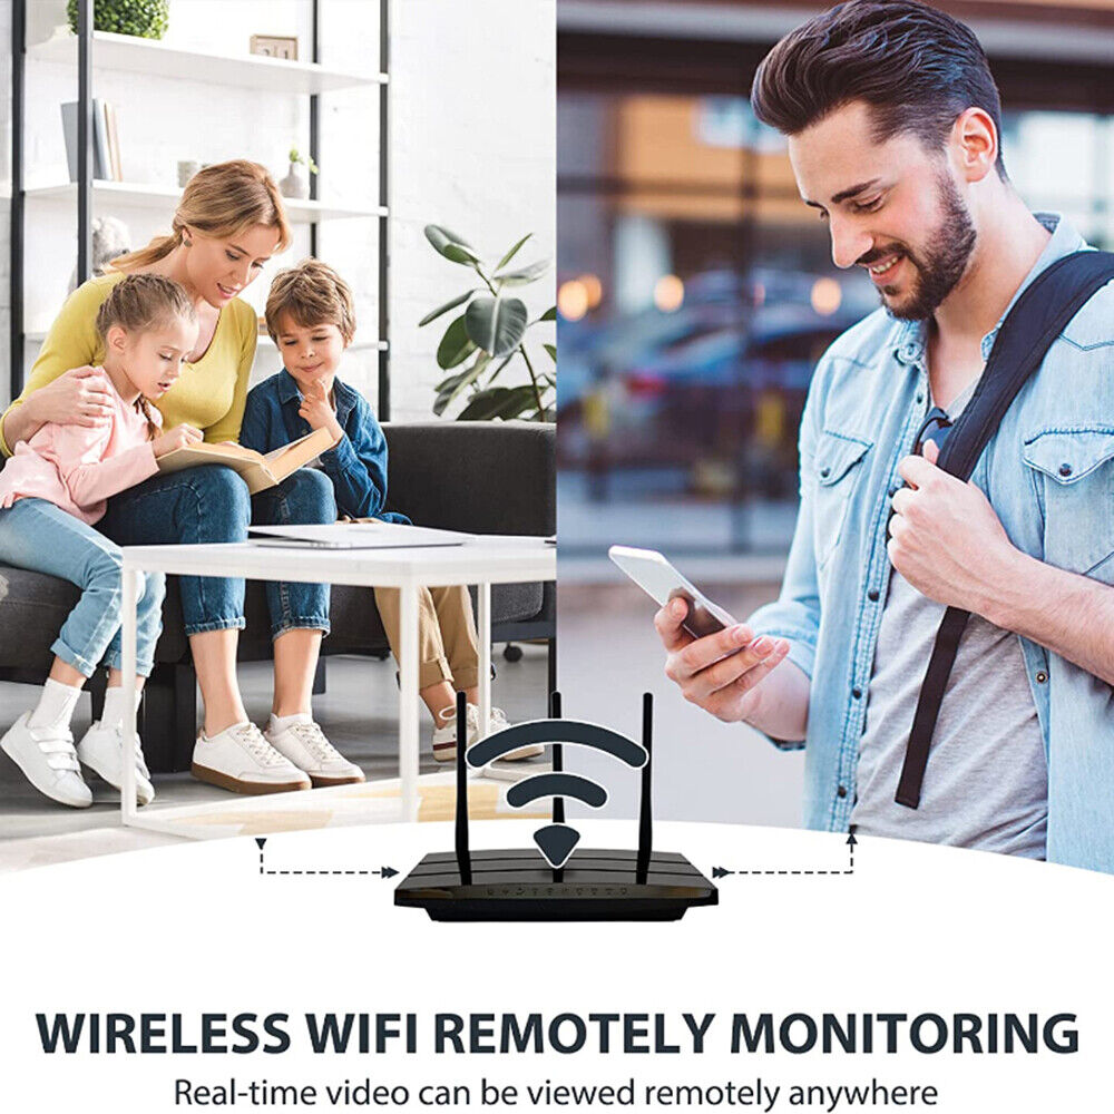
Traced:
<svg viewBox="0 0 1114 1114">
<path fill-rule="evenodd" d="M 1086 246 L 1058 215 L 1037 218 L 1053 235 L 1014 301 L 1045 267 Z M 983 339 L 984 360 L 1000 325 Z M 929 405 L 926 341 L 925 322 L 878 310 L 824 353 L 801 420 L 801 508 L 781 595 L 751 620 L 788 638 L 790 659 L 811 677 L 810 828 L 846 830 L 854 803 L 890 499 Z M 1114 283 L 1053 342 L 971 478 L 1014 546 L 1114 585 Z M 1048 762 L 1048 859 L 1114 872 L 1114 692 L 1019 642 Z"/>
</svg>

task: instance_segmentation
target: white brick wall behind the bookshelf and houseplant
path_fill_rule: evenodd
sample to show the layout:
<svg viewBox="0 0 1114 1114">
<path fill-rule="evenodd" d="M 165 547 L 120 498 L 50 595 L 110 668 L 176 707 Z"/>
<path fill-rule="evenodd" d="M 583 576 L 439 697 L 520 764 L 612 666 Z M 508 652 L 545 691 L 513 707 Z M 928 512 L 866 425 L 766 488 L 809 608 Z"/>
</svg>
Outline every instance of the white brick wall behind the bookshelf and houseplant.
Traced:
<svg viewBox="0 0 1114 1114">
<path fill-rule="evenodd" d="M 374 0 L 321 0 L 321 60 L 338 68 L 375 70 L 379 65 L 379 4 Z M 65 0 L 29 0 L 29 42 L 63 23 Z M 296 35 L 309 56 L 309 0 L 172 0 L 167 42 L 223 53 L 243 53 L 252 33 Z M 451 296 L 467 272 L 440 260 L 421 235 L 440 222 L 498 253 L 528 231 L 538 254 L 554 248 L 554 0 L 393 0 L 392 33 L 392 221 L 391 306 L 392 417 L 429 417 L 437 326 L 419 332 L 422 314 Z M 0 80 L 10 88 L 10 6 L 0 13 Z M 28 184 L 65 180 L 66 153 L 58 105 L 76 98 L 76 68 L 29 61 L 27 68 Z M 247 157 L 286 173 L 286 152 L 309 145 L 307 100 L 207 85 L 97 70 L 95 95 L 111 101 L 119 117 L 124 176 L 129 182 L 176 184 L 179 159 L 202 163 Z M 378 197 L 379 94 L 374 87 L 322 98 L 321 197 L 374 204 Z M 10 106 L 4 96 L 4 141 L 0 155 L 8 177 Z M 98 209 L 98 213 L 102 212 Z M 115 206 L 136 243 L 168 227 L 160 213 Z M 8 214 L 0 219 L 0 311 L 4 344 L 0 392 L 7 390 Z M 42 330 L 66 296 L 75 263 L 76 213 L 71 203 L 29 202 L 26 224 L 28 331 Z M 356 293 L 360 333 L 378 325 L 374 219 L 328 223 L 319 254 L 349 280 Z M 299 229 L 284 258 L 248 291 L 262 309 L 270 275 L 309 252 L 309 232 Z M 526 255 L 522 260 L 532 258 Z M 537 312 L 551 303 L 551 284 L 536 296 Z M 545 338 L 547 340 L 551 338 Z M 29 349 L 33 358 L 33 348 Z M 353 352 L 346 378 L 375 400 L 377 356 Z M 277 368 L 261 352 L 256 377 Z M 508 369 L 509 371 L 509 369 Z"/>
</svg>

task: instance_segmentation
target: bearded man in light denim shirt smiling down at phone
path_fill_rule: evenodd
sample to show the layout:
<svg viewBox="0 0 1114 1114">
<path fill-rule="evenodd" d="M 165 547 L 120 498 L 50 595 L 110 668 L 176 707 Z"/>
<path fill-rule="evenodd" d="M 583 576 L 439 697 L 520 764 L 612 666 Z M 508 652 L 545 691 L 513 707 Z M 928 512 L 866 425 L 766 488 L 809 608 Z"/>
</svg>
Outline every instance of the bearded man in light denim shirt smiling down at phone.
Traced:
<svg viewBox="0 0 1114 1114">
<path fill-rule="evenodd" d="M 655 617 L 685 697 L 807 743 L 809 827 L 1114 871 L 1114 285 L 1053 342 L 970 482 L 936 467 L 1001 321 L 1086 245 L 1032 214 L 986 56 L 912 0 L 852 0 L 760 67 L 804 203 L 882 307 L 817 369 L 780 598 L 693 639 Z M 971 613 L 919 802 L 896 800 L 946 606 Z"/>
</svg>

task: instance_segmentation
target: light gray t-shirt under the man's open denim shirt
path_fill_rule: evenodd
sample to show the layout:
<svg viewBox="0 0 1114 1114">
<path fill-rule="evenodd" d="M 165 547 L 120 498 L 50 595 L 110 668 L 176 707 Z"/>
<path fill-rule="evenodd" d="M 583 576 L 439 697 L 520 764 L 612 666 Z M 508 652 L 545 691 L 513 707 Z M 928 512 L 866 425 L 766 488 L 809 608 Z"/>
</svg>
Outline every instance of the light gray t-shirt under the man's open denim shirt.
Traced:
<svg viewBox="0 0 1114 1114">
<path fill-rule="evenodd" d="M 974 384 L 951 405 L 967 404 Z M 864 836 L 1045 857 L 1048 769 L 1017 636 L 973 615 L 932 735 L 920 805 L 893 800 L 945 607 L 890 573 L 851 823 Z"/>
</svg>

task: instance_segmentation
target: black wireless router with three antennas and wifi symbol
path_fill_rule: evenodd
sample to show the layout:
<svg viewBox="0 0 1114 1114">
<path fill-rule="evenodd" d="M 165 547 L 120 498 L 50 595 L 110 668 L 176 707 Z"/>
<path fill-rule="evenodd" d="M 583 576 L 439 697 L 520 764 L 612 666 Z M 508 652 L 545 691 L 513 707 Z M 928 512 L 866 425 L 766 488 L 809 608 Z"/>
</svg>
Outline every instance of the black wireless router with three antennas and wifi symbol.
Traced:
<svg viewBox="0 0 1114 1114">
<path fill-rule="evenodd" d="M 683 854 L 653 850 L 651 726 L 653 696 L 643 696 L 643 741 L 593 723 L 564 720 L 560 694 L 550 719 L 515 724 L 467 750 L 465 694 L 457 695 L 456 850 L 427 854 L 399 883 L 394 903 L 424 909 L 433 920 L 678 920 L 690 906 L 716 905 L 719 891 Z M 507 793 L 521 808 L 554 798 L 553 823 L 538 829 L 538 851 L 469 851 L 468 766 L 482 766 L 525 743 L 554 744 L 553 772 L 524 779 Z M 565 823 L 565 797 L 599 808 L 602 785 L 564 772 L 563 744 L 606 751 L 642 770 L 636 850 L 576 850 L 580 836 Z"/>
</svg>

